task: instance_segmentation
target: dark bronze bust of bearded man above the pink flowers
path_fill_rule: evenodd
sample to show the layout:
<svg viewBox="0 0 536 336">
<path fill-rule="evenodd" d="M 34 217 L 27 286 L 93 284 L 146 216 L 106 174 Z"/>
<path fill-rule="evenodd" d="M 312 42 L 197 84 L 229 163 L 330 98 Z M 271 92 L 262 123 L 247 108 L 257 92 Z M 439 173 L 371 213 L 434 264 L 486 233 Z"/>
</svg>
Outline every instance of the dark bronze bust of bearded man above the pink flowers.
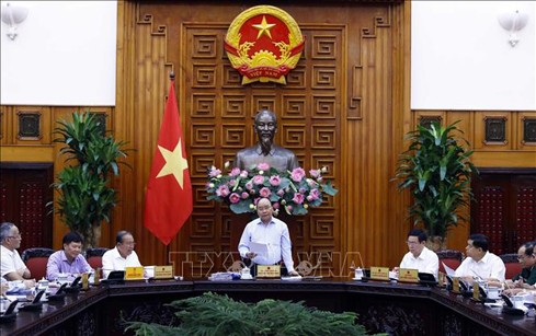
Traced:
<svg viewBox="0 0 536 336">
<path fill-rule="evenodd" d="M 259 142 L 238 151 L 235 158 L 235 166 L 241 170 L 251 170 L 259 163 L 267 163 L 280 172 L 292 171 L 298 167 L 296 154 L 281 146 L 274 144 L 277 132 L 277 117 L 271 111 L 260 111 L 255 116 L 253 129 Z"/>
</svg>

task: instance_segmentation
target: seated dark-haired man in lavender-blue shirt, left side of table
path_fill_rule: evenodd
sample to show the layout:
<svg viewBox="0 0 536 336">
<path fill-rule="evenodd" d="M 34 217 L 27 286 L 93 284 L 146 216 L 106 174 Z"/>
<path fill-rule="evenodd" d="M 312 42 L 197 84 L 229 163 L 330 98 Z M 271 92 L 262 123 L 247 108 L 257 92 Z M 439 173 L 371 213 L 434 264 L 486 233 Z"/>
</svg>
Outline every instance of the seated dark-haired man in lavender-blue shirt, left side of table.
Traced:
<svg viewBox="0 0 536 336">
<path fill-rule="evenodd" d="M 78 275 L 91 271 L 82 252 L 83 240 L 77 232 L 68 232 L 61 242 L 64 250 L 53 253 L 46 264 L 46 278 L 56 280 L 59 274 L 67 274 L 67 280 L 75 280 Z"/>
</svg>

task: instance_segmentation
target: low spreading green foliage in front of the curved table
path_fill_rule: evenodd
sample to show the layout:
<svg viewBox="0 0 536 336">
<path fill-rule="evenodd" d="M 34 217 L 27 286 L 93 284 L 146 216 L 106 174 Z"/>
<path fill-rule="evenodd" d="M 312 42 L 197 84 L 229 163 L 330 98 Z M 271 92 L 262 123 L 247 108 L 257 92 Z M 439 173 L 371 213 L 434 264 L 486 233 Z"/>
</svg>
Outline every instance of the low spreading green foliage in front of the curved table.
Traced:
<svg viewBox="0 0 536 336">
<path fill-rule="evenodd" d="M 356 324 L 357 314 L 324 312 L 303 302 L 243 303 L 207 292 L 169 305 L 176 310 L 178 325 L 127 322 L 127 331 L 136 335 L 367 335 Z"/>
</svg>

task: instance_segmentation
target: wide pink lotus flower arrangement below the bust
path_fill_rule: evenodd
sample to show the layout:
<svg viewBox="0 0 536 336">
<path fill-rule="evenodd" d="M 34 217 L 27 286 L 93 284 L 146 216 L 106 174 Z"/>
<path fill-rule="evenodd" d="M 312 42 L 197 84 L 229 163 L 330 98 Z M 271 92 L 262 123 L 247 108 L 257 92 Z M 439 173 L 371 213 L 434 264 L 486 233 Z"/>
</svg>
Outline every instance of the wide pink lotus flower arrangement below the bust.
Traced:
<svg viewBox="0 0 536 336">
<path fill-rule="evenodd" d="M 229 162 L 225 169 L 229 169 Z M 301 167 L 280 172 L 267 163 L 259 163 L 249 171 L 233 167 L 224 174 L 213 165 L 208 169 L 207 199 L 225 201 L 232 212 L 244 213 L 255 212 L 259 199 L 269 198 L 275 216 L 280 209 L 288 215 L 306 215 L 309 207 L 322 204 L 322 193 L 338 193 L 331 182 L 322 183 L 326 172 L 326 167 L 310 170 L 308 177 Z"/>
</svg>

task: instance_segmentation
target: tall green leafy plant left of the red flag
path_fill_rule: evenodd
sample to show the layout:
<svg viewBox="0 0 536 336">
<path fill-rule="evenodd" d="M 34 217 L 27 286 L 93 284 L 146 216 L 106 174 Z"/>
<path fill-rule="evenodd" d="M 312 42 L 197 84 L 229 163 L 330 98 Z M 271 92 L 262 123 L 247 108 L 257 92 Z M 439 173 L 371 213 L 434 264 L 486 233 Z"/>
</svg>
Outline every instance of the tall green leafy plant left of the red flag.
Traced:
<svg viewBox="0 0 536 336">
<path fill-rule="evenodd" d="M 66 166 L 53 186 L 59 192 L 57 212 L 71 231 L 84 237 L 84 248 L 98 246 L 101 223 L 110 222 L 110 213 L 117 204 L 111 186 L 111 174 L 118 175 L 118 159 L 126 158 L 125 142 L 116 141 L 105 131 L 90 112 L 72 114 L 72 121 L 59 120 L 54 142 L 65 143 L 59 150 L 67 155 Z M 125 163 L 126 164 L 126 163 Z"/>
</svg>

